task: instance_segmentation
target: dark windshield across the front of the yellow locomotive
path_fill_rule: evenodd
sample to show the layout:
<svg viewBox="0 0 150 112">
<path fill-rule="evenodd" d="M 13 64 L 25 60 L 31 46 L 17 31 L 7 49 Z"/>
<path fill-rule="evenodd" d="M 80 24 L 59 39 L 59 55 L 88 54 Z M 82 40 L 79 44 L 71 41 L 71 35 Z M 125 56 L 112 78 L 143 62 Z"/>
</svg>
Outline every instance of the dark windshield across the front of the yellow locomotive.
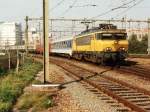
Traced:
<svg viewBox="0 0 150 112">
<path fill-rule="evenodd" d="M 97 40 L 126 40 L 126 33 L 98 33 L 96 35 Z"/>
</svg>

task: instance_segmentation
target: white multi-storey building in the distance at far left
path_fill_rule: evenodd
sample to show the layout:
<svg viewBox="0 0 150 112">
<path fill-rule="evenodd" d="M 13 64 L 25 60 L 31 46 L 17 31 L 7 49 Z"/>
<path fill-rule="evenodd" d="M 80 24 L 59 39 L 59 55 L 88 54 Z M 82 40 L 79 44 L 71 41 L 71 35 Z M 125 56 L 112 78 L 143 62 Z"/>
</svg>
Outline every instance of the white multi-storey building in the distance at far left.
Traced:
<svg viewBox="0 0 150 112">
<path fill-rule="evenodd" d="M 22 44 L 22 26 L 15 22 L 0 22 L 0 46 Z"/>
</svg>

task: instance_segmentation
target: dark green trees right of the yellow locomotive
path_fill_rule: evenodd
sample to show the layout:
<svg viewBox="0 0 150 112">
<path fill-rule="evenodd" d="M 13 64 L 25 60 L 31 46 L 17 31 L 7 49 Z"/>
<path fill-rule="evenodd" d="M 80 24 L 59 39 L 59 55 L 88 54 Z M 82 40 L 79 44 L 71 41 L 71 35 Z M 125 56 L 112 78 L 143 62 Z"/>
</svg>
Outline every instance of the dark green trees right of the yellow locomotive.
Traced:
<svg viewBox="0 0 150 112">
<path fill-rule="evenodd" d="M 132 35 L 129 39 L 129 53 L 131 54 L 147 54 L 148 48 L 148 35 L 142 37 L 141 41 L 138 41 L 137 35 Z"/>
</svg>

